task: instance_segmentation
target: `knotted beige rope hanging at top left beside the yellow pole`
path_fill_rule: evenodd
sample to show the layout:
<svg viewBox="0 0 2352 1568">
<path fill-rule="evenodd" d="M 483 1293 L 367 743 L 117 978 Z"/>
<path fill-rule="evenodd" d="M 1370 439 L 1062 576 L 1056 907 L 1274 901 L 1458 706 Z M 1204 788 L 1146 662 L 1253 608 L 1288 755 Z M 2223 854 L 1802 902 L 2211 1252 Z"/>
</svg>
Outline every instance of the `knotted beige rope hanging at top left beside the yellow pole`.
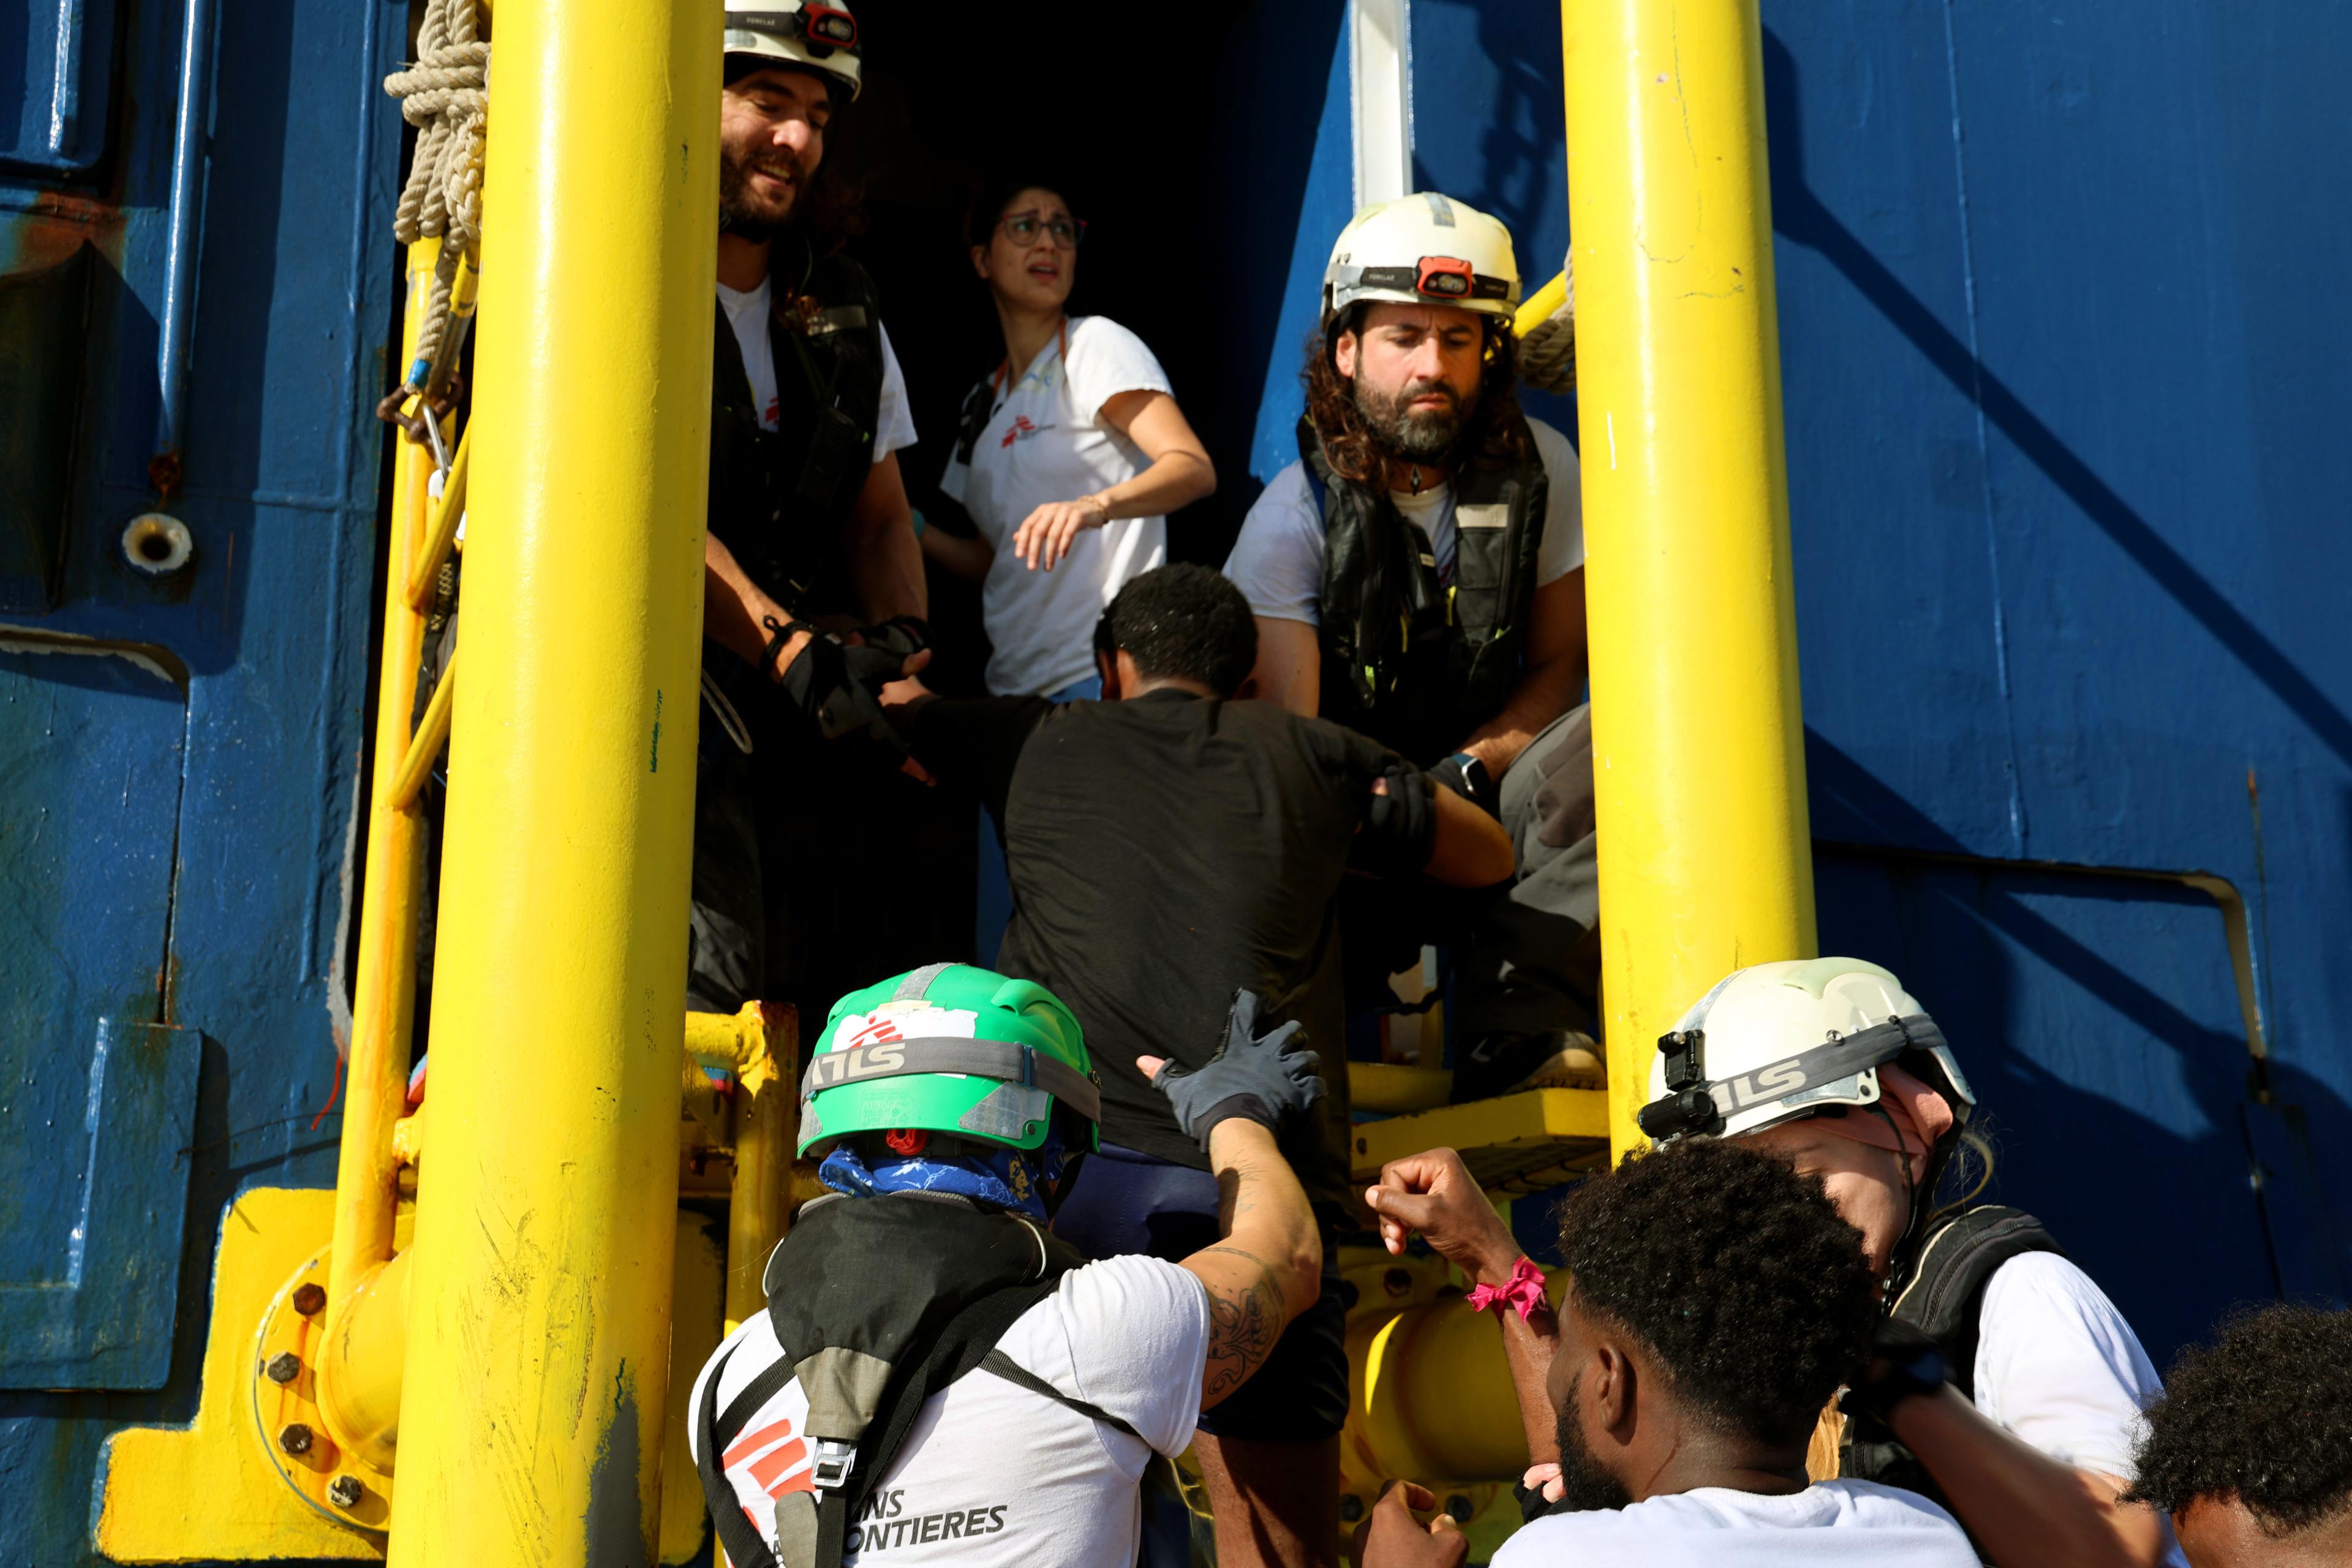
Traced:
<svg viewBox="0 0 2352 1568">
<path fill-rule="evenodd" d="M 393 214 L 402 244 L 442 242 L 433 296 L 416 327 L 416 357 L 440 353 L 459 259 L 482 256 L 482 122 L 489 115 L 489 45 L 475 38 L 475 0 L 426 0 L 416 63 L 383 78 L 400 118 L 416 127 L 416 158 Z"/>
</svg>

